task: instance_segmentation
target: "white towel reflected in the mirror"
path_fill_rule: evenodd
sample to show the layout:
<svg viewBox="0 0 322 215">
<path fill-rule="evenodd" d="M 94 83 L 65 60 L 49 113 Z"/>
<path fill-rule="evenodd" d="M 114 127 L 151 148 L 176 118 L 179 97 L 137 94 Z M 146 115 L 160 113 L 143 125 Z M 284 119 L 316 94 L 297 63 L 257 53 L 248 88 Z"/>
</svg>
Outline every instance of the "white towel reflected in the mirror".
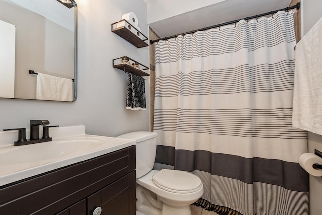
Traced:
<svg viewBox="0 0 322 215">
<path fill-rule="evenodd" d="M 72 101 L 73 83 L 71 79 L 38 73 L 36 99 Z"/>
</svg>

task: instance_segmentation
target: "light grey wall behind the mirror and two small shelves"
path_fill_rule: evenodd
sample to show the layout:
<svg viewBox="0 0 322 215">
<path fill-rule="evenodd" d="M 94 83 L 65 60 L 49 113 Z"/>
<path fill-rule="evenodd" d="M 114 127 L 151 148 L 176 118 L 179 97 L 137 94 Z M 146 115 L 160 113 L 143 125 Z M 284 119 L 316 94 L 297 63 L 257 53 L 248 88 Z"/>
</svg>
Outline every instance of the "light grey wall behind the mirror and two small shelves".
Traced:
<svg viewBox="0 0 322 215">
<path fill-rule="evenodd" d="M 88 134 L 106 136 L 149 130 L 149 81 L 145 81 L 147 110 L 127 110 L 127 75 L 112 68 L 112 59 L 124 55 L 149 65 L 148 47 L 137 49 L 111 32 L 111 23 L 123 13 L 134 12 L 143 34 L 148 35 L 146 4 L 142 0 L 76 2 L 78 99 L 71 103 L 0 99 L 0 130 L 29 128 L 31 119 L 48 119 L 51 125 L 85 125 Z"/>
</svg>

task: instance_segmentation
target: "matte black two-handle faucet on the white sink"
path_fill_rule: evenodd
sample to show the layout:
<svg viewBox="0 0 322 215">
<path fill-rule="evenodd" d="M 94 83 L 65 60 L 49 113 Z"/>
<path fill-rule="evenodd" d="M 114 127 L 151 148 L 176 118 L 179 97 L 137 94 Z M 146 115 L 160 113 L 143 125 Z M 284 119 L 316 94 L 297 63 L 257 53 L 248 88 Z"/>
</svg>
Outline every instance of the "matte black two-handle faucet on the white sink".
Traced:
<svg viewBox="0 0 322 215">
<path fill-rule="evenodd" d="M 49 137 L 50 127 L 56 126 L 46 126 L 49 124 L 48 120 L 30 120 L 30 140 L 26 140 L 26 128 L 18 128 L 18 129 L 4 129 L 4 131 L 9 130 L 18 130 L 18 140 L 14 141 L 15 146 L 33 144 L 33 143 L 42 143 L 52 141 L 52 138 Z M 39 138 L 39 126 L 43 126 L 43 136 Z"/>
</svg>

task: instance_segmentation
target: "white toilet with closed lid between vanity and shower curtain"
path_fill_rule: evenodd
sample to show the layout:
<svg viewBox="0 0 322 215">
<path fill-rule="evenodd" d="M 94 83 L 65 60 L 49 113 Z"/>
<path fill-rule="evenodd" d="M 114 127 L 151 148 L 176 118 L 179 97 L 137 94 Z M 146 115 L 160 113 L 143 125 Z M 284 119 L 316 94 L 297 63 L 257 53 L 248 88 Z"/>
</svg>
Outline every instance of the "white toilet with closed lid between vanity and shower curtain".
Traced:
<svg viewBox="0 0 322 215">
<path fill-rule="evenodd" d="M 203 194 L 201 180 L 185 171 L 152 170 L 156 136 L 146 131 L 118 136 L 136 140 L 136 215 L 191 215 L 190 204 Z"/>
</svg>

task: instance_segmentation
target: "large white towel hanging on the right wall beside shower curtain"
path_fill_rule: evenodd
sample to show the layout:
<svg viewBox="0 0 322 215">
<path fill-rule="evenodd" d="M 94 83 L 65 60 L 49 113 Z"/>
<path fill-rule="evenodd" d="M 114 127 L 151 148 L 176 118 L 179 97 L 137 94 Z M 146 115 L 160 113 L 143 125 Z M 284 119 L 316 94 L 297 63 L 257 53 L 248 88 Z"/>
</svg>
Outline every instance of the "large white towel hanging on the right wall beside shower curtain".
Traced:
<svg viewBox="0 0 322 215">
<path fill-rule="evenodd" d="M 322 135 L 322 18 L 296 45 L 292 120 Z"/>
</svg>

